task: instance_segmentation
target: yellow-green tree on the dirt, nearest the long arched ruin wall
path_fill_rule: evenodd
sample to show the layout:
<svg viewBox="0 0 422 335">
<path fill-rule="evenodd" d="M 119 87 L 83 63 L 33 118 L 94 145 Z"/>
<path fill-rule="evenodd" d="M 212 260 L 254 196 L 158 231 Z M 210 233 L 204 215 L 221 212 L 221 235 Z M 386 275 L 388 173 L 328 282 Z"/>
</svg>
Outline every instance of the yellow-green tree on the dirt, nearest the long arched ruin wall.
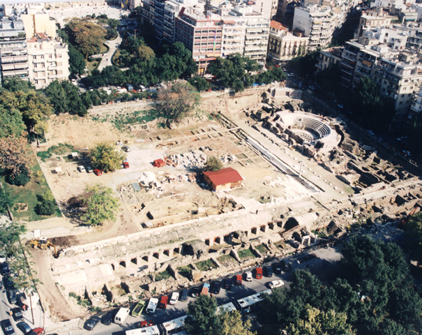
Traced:
<svg viewBox="0 0 422 335">
<path fill-rule="evenodd" d="M 89 198 L 86 200 L 86 213 L 81 219 L 86 225 L 102 225 L 114 220 L 114 213 L 119 209 L 119 200 L 112 195 L 112 189 L 105 186 L 86 188 Z"/>
</svg>

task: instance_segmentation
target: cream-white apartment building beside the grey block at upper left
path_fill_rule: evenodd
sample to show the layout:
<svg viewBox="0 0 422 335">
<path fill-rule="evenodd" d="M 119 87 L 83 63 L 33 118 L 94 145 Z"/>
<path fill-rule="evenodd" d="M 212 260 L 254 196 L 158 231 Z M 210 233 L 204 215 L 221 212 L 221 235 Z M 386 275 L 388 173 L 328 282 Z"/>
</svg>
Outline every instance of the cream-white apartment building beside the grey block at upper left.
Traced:
<svg viewBox="0 0 422 335">
<path fill-rule="evenodd" d="M 66 80 L 69 73 L 68 45 L 60 38 L 39 33 L 27 41 L 29 80 L 37 89 L 54 80 Z"/>
</svg>

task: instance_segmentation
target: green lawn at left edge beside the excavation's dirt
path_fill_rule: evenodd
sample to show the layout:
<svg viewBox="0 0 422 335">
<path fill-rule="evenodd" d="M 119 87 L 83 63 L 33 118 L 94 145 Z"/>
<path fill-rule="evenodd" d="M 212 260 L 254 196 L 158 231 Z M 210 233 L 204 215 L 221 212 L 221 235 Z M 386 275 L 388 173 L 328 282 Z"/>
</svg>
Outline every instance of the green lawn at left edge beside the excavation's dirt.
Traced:
<svg viewBox="0 0 422 335">
<path fill-rule="evenodd" d="M 31 180 L 25 186 L 15 186 L 9 185 L 4 181 L 4 176 L 1 176 L 0 181 L 3 184 L 6 191 L 10 194 L 10 198 L 13 202 L 12 213 L 15 218 L 22 218 L 26 221 L 37 221 L 43 220 L 45 218 L 60 217 L 61 211 L 59 207 L 56 206 L 56 211 L 51 216 L 40 216 L 36 214 L 35 207 L 38 204 L 40 197 L 45 195 L 46 191 L 51 191 L 50 186 L 48 186 L 47 181 L 45 180 L 44 174 L 41 171 L 40 165 L 36 163 L 31 168 L 33 174 L 31 175 Z M 20 207 L 17 204 L 24 204 L 28 207 L 26 211 L 20 211 Z"/>
</svg>

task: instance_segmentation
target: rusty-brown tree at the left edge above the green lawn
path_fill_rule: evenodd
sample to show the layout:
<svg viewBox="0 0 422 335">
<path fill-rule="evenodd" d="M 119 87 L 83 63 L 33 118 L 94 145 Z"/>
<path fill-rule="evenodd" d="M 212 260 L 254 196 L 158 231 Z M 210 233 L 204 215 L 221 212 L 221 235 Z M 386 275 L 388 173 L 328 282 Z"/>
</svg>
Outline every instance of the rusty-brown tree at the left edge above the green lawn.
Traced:
<svg viewBox="0 0 422 335">
<path fill-rule="evenodd" d="M 35 162 L 24 137 L 0 138 L 0 168 L 8 171 L 12 178 Z"/>
</svg>

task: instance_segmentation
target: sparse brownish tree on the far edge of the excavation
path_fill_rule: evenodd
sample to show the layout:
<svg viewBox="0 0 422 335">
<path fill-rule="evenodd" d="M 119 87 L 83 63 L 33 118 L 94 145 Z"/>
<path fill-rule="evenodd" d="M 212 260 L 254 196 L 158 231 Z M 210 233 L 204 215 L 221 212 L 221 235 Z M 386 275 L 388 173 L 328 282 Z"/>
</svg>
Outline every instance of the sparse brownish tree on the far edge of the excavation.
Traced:
<svg viewBox="0 0 422 335">
<path fill-rule="evenodd" d="M 169 121 L 179 121 L 191 112 L 201 97 L 189 83 L 176 82 L 158 93 L 155 107 Z"/>
</svg>

